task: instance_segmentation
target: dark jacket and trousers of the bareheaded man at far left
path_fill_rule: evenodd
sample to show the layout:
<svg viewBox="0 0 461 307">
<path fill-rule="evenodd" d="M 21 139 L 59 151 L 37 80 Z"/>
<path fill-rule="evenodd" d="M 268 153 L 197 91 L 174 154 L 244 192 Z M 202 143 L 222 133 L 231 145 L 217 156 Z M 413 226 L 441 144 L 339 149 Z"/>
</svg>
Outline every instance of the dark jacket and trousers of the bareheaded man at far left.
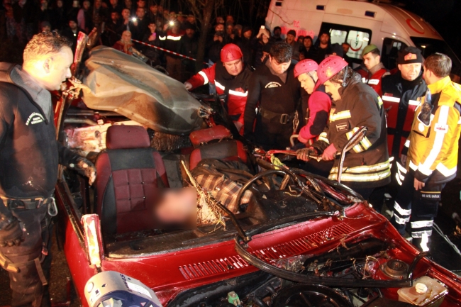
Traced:
<svg viewBox="0 0 461 307">
<path fill-rule="evenodd" d="M 40 306 L 51 261 L 45 256 L 57 164 L 79 157 L 56 141 L 50 97 L 21 67 L 0 63 L 0 233 L 9 235 L 17 221 L 23 230 L 20 245 L 0 247 L 13 306 Z M 40 102 L 47 99 L 45 112 Z"/>
</svg>

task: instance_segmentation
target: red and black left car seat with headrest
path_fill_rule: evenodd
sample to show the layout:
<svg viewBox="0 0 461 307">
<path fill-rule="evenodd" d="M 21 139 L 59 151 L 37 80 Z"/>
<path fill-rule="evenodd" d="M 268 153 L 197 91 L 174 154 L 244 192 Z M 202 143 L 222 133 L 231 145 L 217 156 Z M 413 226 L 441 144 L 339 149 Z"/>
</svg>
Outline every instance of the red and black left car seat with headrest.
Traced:
<svg viewBox="0 0 461 307">
<path fill-rule="evenodd" d="M 112 125 L 106 146 L 96 160 L 96 213 L 102 232 L 155 228 L 152 204 L 168 179 L 162 157 L 150 147 L 148 132 L 135 125 Z"/>
</svg>

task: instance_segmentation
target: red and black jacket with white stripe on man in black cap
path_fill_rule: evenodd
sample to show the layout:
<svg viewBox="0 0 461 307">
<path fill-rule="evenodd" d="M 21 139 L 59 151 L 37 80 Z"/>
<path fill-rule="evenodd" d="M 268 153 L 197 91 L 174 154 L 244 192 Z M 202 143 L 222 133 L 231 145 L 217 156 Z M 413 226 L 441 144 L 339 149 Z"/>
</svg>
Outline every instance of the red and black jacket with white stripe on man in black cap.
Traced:
<svg viewBox="0 0 461 307">
<path fill-rule="evenodd" d="M 413 81 L 403 79 L 400 71 L 382 79 L 381 98 L 387 113 L 387 147 L 389 156 L 397 162 L 410 135 L 418 100 L 426 94 L 426 89 L 422 74 Z"/>
</svg>

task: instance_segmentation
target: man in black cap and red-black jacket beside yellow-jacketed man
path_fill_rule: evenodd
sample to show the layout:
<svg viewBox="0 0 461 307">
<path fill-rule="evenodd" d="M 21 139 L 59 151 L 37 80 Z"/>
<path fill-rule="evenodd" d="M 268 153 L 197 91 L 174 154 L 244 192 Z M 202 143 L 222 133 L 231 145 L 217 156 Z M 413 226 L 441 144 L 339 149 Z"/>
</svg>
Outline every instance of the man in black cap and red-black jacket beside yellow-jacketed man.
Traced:
<svg viewBox="0 0 461 307">
<path fill-rule="evenodd" d="M 406 174 L 406 155 L 401 155 L 410 135 L 414 112 L 419 97 L 426 93 L 421 66 L 423 56 L 416 47 L 406 47 L 397 58 L 399 72 L 382 79 L 382 101 L 387 113 L 387 146 L 391 157 L 389 192 L 396 196 Z"/>
</svg>

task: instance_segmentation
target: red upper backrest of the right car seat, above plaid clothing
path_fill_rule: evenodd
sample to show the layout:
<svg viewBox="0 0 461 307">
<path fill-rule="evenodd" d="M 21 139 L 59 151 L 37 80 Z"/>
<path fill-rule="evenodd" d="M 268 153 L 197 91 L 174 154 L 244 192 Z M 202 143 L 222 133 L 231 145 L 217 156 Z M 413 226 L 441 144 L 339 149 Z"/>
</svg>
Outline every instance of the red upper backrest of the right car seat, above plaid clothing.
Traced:
<svg viewBox="0 0 461 307">
<path fill-rule="evenodd" d="M 203 159 L 240 160 L 247 162 L 247 152 L 239 140 L 226 140 L 220 143 L 206 144 L 194 149 L 189 157 L 189 169 Z"/>
</svg>

